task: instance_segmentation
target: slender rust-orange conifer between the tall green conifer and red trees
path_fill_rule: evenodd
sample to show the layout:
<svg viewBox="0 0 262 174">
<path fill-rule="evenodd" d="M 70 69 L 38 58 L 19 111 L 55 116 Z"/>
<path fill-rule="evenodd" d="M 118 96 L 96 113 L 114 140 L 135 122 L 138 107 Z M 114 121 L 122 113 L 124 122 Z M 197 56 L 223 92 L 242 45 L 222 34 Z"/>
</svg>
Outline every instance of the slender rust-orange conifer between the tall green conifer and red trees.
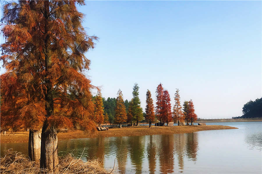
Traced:
<svg viewBox="0 0 262 174">
<path fill-rule="evenodd" d="M 152 122 L 155 120 L 154 104 L 151 97 L 150 90 L 146 92 L 146 119 L 149 120 L 149 127 L 151 127 Z"/>
</svg>

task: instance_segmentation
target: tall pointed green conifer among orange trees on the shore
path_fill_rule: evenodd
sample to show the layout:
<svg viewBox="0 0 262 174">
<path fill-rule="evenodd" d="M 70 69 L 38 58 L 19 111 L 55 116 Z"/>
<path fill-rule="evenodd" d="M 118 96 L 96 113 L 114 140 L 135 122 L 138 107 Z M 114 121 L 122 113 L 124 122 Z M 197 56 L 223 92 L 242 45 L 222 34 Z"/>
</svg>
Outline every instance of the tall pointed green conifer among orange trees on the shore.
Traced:
<svg viewBox="0 0 262 174">
<path fill-rule="evenodd" d="M 141 102 L 140 102 L 140 99 L 139 99 L 139 87 L 138 87 L 138 84 L 135 83 L 134 84 L 134 87 L 133 87 L 133 109 L 132 109 L 132 113 L 133 113 L 133 118 L 135 119 L 136 121 L 136 126 L 138 126 L 138 121 L 142 120 L 143 119 L 143 110 L 141 108 Z"/>
</svg>

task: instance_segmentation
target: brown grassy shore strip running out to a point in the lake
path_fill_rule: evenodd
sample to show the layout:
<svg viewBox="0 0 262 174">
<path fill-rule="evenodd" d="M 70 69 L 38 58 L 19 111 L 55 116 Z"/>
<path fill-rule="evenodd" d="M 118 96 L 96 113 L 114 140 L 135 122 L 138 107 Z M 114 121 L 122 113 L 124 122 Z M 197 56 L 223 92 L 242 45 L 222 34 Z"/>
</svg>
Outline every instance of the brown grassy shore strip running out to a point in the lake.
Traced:
<svg viewBox="0 0 262 174">
<path fill-rule="evenodd" d="M 130 127 L 130 128 L 111 128 L 108 131 L 97 131 L 96 134 L 86 135 L 83 131 L 74 130 L 58 133 L 58 140 L 77 139 L 77 138 L 96 138 L 96 137 L 125 137 L 138 135 L 162 135 L 162 134 L 179 134 L 193 133 L 197 131 L 209 131 L 220 129 L 238 129 L 231 126 L 220 125 L 203 125 L 203 126 L 174 126 L 174 127 Z M 7 132 L 6 135 L 1 134 L 0 143 L 17 143 L 28 142 L 29 131 L 25 132 Z"/>
</svg>

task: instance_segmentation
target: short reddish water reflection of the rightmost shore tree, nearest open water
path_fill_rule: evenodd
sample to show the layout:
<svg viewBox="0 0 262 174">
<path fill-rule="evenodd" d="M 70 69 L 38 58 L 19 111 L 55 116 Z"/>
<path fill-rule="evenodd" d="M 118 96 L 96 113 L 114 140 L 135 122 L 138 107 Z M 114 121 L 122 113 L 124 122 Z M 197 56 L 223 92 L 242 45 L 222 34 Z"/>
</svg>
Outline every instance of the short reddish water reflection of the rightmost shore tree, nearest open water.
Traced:
<svg viewBox="0 0 262 174">
<path fill-rule="evenodd" d="M 187 133 L 186 154 L 192 161 L 197 160 L 197 133 Z"/>
</svg>

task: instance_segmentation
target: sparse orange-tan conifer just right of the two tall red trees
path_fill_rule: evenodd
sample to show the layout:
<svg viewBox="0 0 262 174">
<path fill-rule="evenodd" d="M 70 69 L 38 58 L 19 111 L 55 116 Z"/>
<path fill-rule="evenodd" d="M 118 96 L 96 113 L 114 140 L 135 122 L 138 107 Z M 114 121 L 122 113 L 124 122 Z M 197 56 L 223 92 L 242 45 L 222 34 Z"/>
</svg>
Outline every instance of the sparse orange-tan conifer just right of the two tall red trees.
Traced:
<svg viewBox="0 0 262 174">
<path fill-rule="evenodd" d="M 173 108 L 173 116 L 174 116 L 173 119 L 174 119 L 174 122 L 177 122 L 177 125 L 179 126 L 179 122 L 184 120 L 184 115 L 183 115 L 182 107 L 180 104 L 180 95 L 179 95 L 178 89 L 176 89 L 174 99 L 175 99 L 175 105 Z"/>
</svg>

